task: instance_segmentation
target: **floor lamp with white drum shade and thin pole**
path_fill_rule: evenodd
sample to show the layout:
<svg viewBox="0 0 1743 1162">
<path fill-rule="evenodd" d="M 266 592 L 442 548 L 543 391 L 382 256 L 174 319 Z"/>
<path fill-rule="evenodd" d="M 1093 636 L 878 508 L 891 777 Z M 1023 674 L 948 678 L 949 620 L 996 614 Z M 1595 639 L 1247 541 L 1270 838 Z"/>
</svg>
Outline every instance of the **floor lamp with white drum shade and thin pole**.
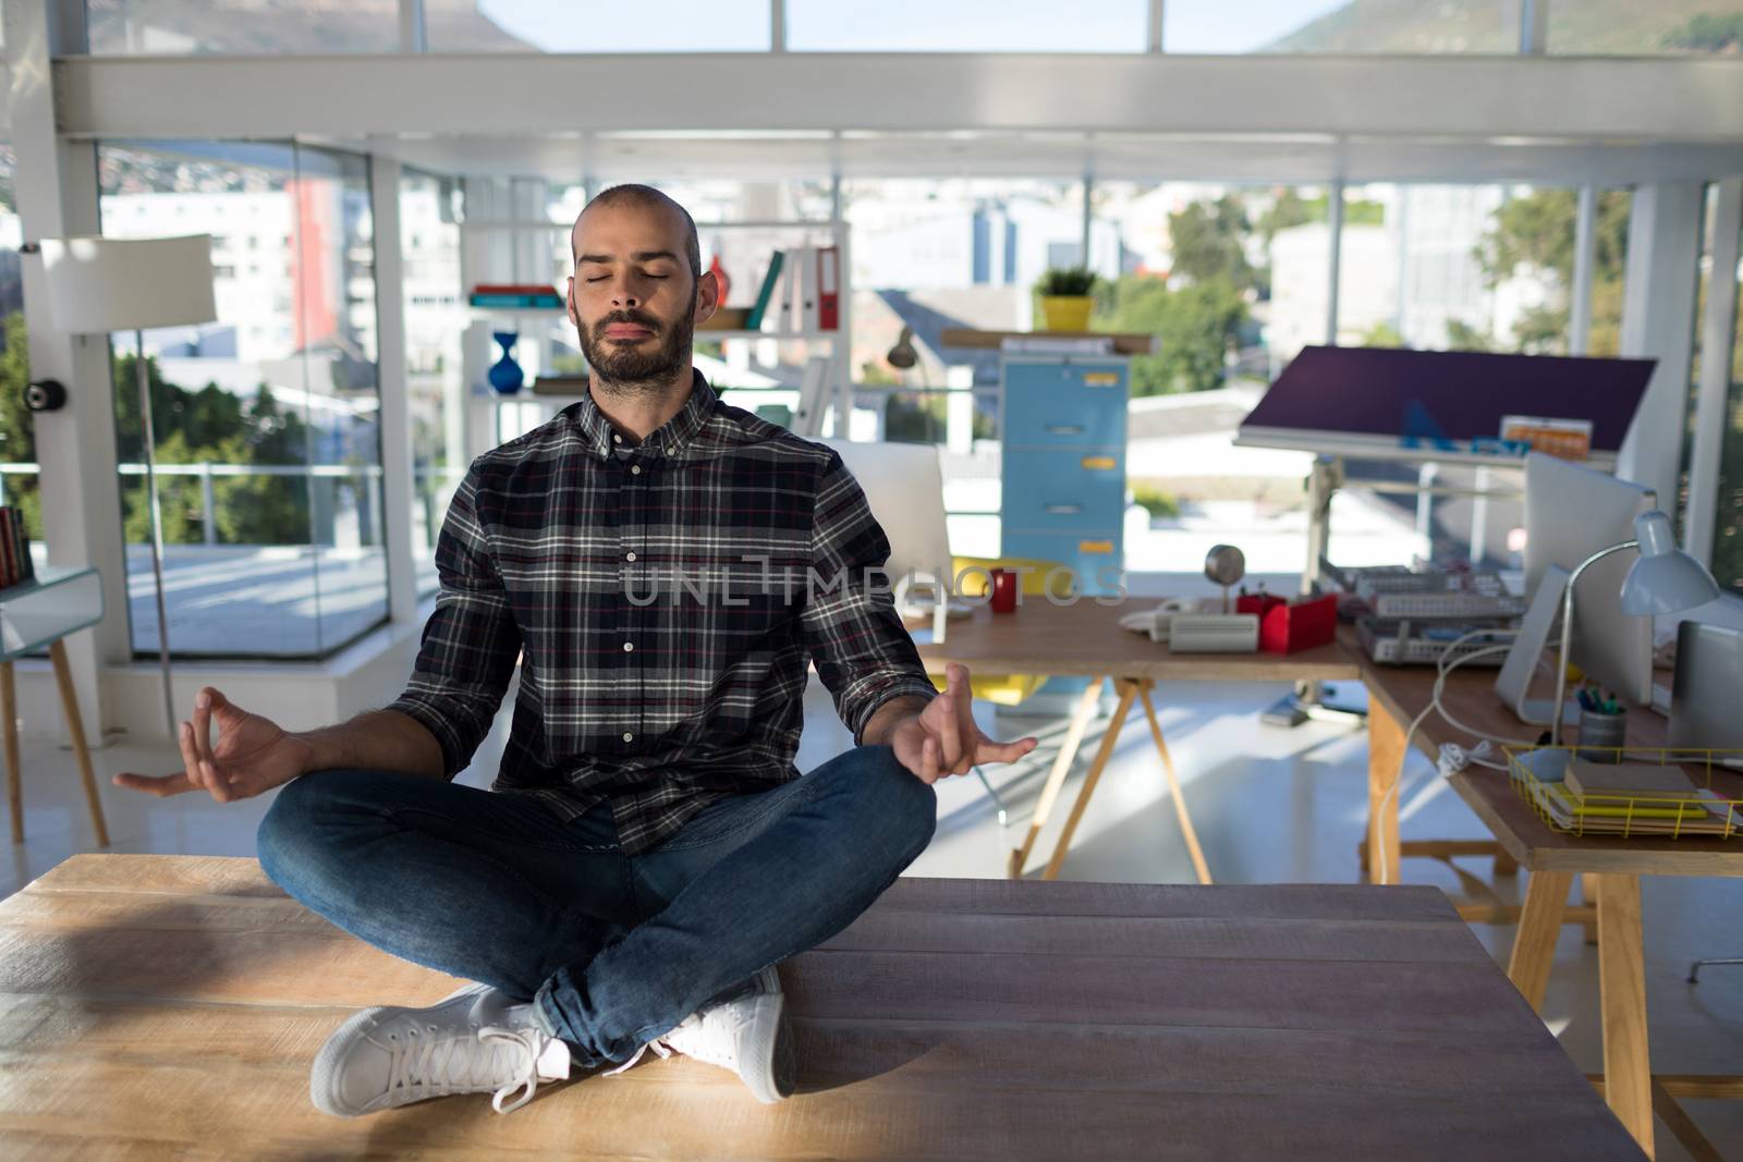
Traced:
<svg viewBox="0 0 1743 1162">
<path fill-rule="evenodd" d="M 211 322 L 213 237 L 42 239 L 49 310 L 56 331 L 110 334 L 132 331 L 145 439 L 145 490 L 152 512 L 152 577 L 157 582 L 157 659 L 164 669 L 164 714 L 176 739 L 176 699 L 169 685 L 169 615 L 164 610 L 164 514 L 157 500 L 157 434 L 145 366 L 145 329 Z"/>
</svg>

